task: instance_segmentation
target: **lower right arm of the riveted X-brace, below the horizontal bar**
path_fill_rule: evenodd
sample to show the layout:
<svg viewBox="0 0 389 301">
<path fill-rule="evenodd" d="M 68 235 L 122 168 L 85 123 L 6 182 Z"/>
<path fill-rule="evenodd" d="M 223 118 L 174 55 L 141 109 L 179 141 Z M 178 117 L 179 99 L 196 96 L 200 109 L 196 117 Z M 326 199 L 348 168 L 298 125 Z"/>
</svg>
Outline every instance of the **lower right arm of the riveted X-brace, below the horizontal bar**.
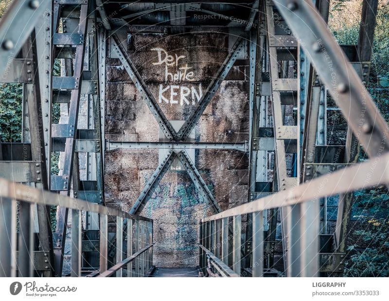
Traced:
<svg viewBox="0 0 389 301">
<path fill-rule="evenodd" d="M 195 187 L 197 188 L 201 196 L 206 199 L 208 204 L 211 206 L 213 213 L 216 214 L 221 212 L 221 209 L 217 201 L 213 197 L 211 190 L 208 188 L 207 184 L 205 184 L 203 178 L 195 167 L 195 164 L 188 156 L 188 153 L 186 151 L 180 151 L 177 153 L 177 157 L 181 161 L 182 165 L 185 167 L 186 171 L 188 172 L 188 175 L 192 179 L 193 183 L 195 184 Z"/>
</svg>

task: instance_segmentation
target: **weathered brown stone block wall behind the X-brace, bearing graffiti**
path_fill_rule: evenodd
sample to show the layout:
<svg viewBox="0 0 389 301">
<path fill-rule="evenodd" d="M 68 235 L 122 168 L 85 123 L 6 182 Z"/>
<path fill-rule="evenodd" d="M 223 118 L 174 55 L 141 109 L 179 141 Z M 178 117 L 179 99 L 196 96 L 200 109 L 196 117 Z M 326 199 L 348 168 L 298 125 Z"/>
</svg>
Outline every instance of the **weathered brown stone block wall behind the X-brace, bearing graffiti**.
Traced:
<svg viewBox="0 0 389 301">
<path fill-rule="evenodd" d="M 128 29 L 126 47 L 131 59 L 165 116 L 186 120 L 236 35 L 212 28 L 183 33 L 166 28 L 138 31 Z M 248 60 L 243 55 L 195 126 L 195 141 L 248 140 L 248 88 Z M 119 59 L 110 57 L 106 60 L 105 136 L 111 141 L 159 141 L 157 121 Z M 158 164 L 155 149 L 106 151 L 106 204 L 129 211 Z M 247 154 L 197 150 L 195 165 L 222 210 L 248 201 Z M 168 171 L 141 215 L 154 219 L 156 266 L 198 265 L 198 223 L 212 212 L 186 171 Z"/>
</svg>

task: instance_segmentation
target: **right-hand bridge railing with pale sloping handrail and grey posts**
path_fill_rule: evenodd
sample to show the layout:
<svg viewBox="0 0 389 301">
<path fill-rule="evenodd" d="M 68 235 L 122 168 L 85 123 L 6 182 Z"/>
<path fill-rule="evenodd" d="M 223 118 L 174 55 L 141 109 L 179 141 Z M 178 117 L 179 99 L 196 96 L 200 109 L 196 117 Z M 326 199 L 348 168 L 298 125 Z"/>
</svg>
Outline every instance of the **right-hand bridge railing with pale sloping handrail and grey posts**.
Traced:
<svg viewBox="0 0 389 301">
<path fill-rule="evenodd" d="M 210 276 L 240 277 L 242 275 L 241 235 L 242 228 L 244 228 L 242 224 L 245 225 L 245 222 L 242 223 L 242 216 L 251 214 L 251 274 L 253 277 L 261 277 L 264 275 L 265 210 L 299 204 L 310 206 L 326 196 L 361 190 L 379 184 L 389 184 L 389 154 L 382 154 L 361 164 L 325 174 L 294 188 L 203 218 L 199 225 L 200 268 L 204 274 L 208 273 Z M 288 245 L 290 245 L 288 268 L 294 268 L 294 274 L 303 275 L 304 273 L 300 272 L 308 267 L 305 265 L 306 262 L 316 262 L 315 270 L 309 272 L 310 275 L 315 275 L 319 269 L 318 233 L 313 234 L 309 228 L 315 229 L 314 224 L 318 222 L 319 210 L 314 216 L 308 216 L 304 212 L 304 208 L 301 208 L 299 220 L 286 234 L 289 240 Z M 229 234 L 231 223 L 233 231 Z M 312 244 L 313 248 L 312 246 L 304 248 Z M 310 267 L 315 267 L 315 265 Z"/>
</svg>

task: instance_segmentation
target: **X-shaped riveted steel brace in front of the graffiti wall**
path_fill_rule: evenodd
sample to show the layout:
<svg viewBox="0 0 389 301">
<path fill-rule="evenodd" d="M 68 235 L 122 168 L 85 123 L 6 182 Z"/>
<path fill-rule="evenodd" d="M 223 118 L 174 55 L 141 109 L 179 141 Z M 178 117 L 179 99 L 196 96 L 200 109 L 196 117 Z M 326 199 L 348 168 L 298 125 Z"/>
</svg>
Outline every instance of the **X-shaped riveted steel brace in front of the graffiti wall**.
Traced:
<svg viewBox="0 0 389 301">
<path fill-rule="evenodd" d="M 234 46 L 230 50 L 222 66 L 218 69 L 211 83 L 208 85 L 205 93 L 202 95 L 201 99 L 198 102 L 197 108 L 190 115 L 188 120 L 185 121 L 185 123 L 182 125 L 182 127 L 177 133 L 174 130 L 173 126 L 170 124 L 169 120 L 163 114 L 157 101 L 155 100 L 154 96 L 150 92 L 149 88 L 146 86 L 140 73 L 138 72 L 137 68 L 135 67 L 134 63 L 129 57 L 127 51 L 125 50 L 122 43 L 120 42 L 118 36 L 116 34 L 112 34 L 112 39 L 113 39 L 112 45 L 119 57 L 119 60 L 122 62 L 124 69 L 127 71 L 131 80 L 133 81 L 136 88 L 140 92 L 141 98 L 146 101 L 147 106 L 149 107 L 151 113 L 156 118 L 160 129 L 165 134 L 166 138 L 176 142 L 185 141 L 189 137 L 198 119 L 203 114 L 207 105 L 211 102 L 212 97 L 214 96 L 216 90 L 219 88 L 222 81 L 226 78 L 228 72 L 230 71 L 233 64 L 235 63 L 238 55 L 244 48 L 243 36 L 241 35 L 236 40 Z M 169 153 L 167 154 L 163 162 L 156 169 L 151 179 L 143 188 L 141 195 L 139 196 L 138 200 L 135 202 L 133 208 L 130 211 L 131 214 L 139 214 L 141 212 L 141 210 L 144 208 L 145 204 L 153 194 L 154 190 L 157 188 L 163 175 L 166 173 L 166 171 L 173 163 L 173 160 L 176 157 L 176 155 L 180 159 L 182 165 L 188 171 L 189 176 L 191 177 L 192 181 L 195 183 L 196 188 L 199 189 L 200 194 L 203 197 L 205 197 L 209 202 L 212 211 L 214 213 L 218 213 L 221 211 L 216 200 L 212 196 L 211 191 L 209 190 L 208 186 L 205 184 L 204 180 L 201 178 L 199 172 L 195 167 L 195 164 L 191 161 L 186 151 L 179 151 L 178 154 L 176 152 L 169 151 Z"/>
</svg>

